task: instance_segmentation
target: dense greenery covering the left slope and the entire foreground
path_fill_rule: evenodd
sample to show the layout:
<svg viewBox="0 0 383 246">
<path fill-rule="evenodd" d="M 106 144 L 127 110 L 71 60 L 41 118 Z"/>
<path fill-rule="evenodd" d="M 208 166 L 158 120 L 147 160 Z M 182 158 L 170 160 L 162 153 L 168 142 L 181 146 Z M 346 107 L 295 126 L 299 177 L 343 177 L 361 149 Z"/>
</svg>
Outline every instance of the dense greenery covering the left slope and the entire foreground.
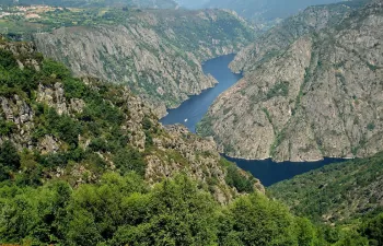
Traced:
<svg viewBox="0 0 383 246">
<path fill-rule="evenodd" d="M 207 150 L 193 153 L 205 181 L 186 172 L 149 181 L 149 157 L 155 154 L 193 164 L 177 149 L 155 145 L 171 138 L 156 118 L 138 112 L 142 103 L 129 104 L 135 97 L 124 86 L 85 83 L 30 49 L 0 42 L 0 244 L 382 245 L 382 214 L 352 226 L 313 224 L 255 191 L 254 178 L 233 164 L 220 159 L 213 169 Z M 59 97 L 53 104 L 39 99 L 47 94 L 43 89 L 59 84 L 66 99 L 83 102 L 81 110 L 66 113 Z M 9 117 L 18 108 L 22 117 Z M 139 126 L 121 127 L 137 117 Z M 141 128 L 140 150 L 134 140 Z M 39 148 L 47 136 L 59 145 L 54 151 Z M 221 171 L 224 183 L 213 175 Z M 212 190 L 224 184 L 239 194 L 220 203 Z"/>
</svg>

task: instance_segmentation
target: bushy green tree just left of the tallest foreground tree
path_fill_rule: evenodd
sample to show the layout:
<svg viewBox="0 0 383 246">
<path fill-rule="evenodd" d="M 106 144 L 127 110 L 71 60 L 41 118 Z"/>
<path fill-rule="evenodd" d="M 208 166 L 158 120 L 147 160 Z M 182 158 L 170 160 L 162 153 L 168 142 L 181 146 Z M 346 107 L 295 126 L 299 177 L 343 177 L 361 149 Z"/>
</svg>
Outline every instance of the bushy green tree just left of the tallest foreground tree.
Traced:
<svg viewBox="0 0 383 246">
<path fill-rule="evenodd" d="M 68 245 L 95 245 L 112 239 L 117 230 L 135 221 L 134 208 L 124 207 L 135 192 L 147 192 L 143 179 L 137 174 L 125 177 L 106 173 L 98 185 L 82 185 L 72 195 L 67 207 Z"/>
</svg>

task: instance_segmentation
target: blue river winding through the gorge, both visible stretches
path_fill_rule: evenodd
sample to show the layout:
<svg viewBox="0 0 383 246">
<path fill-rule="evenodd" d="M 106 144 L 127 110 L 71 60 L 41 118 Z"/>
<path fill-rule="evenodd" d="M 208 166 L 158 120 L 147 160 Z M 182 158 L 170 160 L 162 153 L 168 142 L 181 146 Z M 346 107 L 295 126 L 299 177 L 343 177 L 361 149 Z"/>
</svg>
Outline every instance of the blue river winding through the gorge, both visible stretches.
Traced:
<svg viewBox="0 0 383 246">
<path fill-rule="evenodd" d="M 234 74 L 229 69 L 229 63 L 233 60 L 234 55 L 221 56 L 204 63 L 202 69 L 206 74 L 211 74 L 219 83 L 204 91 L 201 94 L 192 96 L 185 101 L 179 107 L 169 109 L 169 115 L 160 121 L 163 125 L 183 124 L 192 132 L 196 131 L 197 124 L 202 119 L 214 99 L 231 85 L 237 82 L 242 75 Z M 231 159 L 241 168 L 251 172 L 258 178 L 264 186 L 270 186 L 275 183 L 292 178 L 295 175 L 320 168 L 330 163 L 341 162 L 341 159 L 325 159 L 318 162 L 282 162 L 276 163 L 271 160 L 247 161 L 241 159 Z"/>
</svg>

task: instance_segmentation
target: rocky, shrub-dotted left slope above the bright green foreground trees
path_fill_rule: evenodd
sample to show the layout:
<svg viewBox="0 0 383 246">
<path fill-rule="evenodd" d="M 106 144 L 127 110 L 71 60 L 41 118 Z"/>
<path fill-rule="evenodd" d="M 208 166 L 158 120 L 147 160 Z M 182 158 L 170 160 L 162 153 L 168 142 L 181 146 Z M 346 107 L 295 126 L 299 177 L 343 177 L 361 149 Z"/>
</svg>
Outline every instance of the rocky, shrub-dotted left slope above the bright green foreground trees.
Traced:
<svg viewBox="0 0 383 246">
<path fill-rule="evenodd" d="M 0 54 L 0 144 L 11 141 L 28 156 L 20 172 L 74 186 L 96 181 L 101 171 L 143 171 L 150 184 L 183 173 L 222 203 L 239 195 L 227 183 L 228 168 L 212 139 L 181 126 L 162 127 L 127 86 L 74 79 L 30 44 L 1 40 Z M 242 175 L 263 190 L 258 180 Z"/>
</svg>

